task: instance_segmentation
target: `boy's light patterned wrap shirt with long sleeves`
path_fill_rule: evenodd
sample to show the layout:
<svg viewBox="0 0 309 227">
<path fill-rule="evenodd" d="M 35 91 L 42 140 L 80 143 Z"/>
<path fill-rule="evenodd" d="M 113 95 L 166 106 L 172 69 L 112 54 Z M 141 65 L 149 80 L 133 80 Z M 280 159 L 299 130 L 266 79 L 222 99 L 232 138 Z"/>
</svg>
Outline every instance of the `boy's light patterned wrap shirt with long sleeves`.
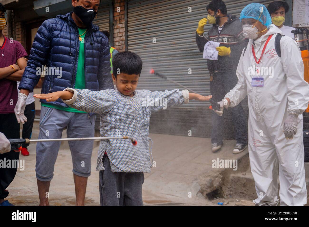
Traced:
<svg viewBox="0 0 309 227">
<path fill-rule="evenodd" d="M 110 160 L 112 172 L 150 173 L 152 161 L 149 153 L 150 115 L 165 108 L 188 102 L 188 90 L 149 91 L 135 90 L 134 96 L 121 94 L 118 90 L 91 91 L 66 88 L 74 92 L 70 100 L 63 100 L 69 106 L 86 112 L 100 114 L 102 137 L 128 136 L 130 140 L 102 140 L 100 142 L 96 170 L 104 170 L 104 152 Z M 185 97 L 185 98 L 184 98 Z M 152 155 L 151 155 L 152 156 Z"/>
</svg>

